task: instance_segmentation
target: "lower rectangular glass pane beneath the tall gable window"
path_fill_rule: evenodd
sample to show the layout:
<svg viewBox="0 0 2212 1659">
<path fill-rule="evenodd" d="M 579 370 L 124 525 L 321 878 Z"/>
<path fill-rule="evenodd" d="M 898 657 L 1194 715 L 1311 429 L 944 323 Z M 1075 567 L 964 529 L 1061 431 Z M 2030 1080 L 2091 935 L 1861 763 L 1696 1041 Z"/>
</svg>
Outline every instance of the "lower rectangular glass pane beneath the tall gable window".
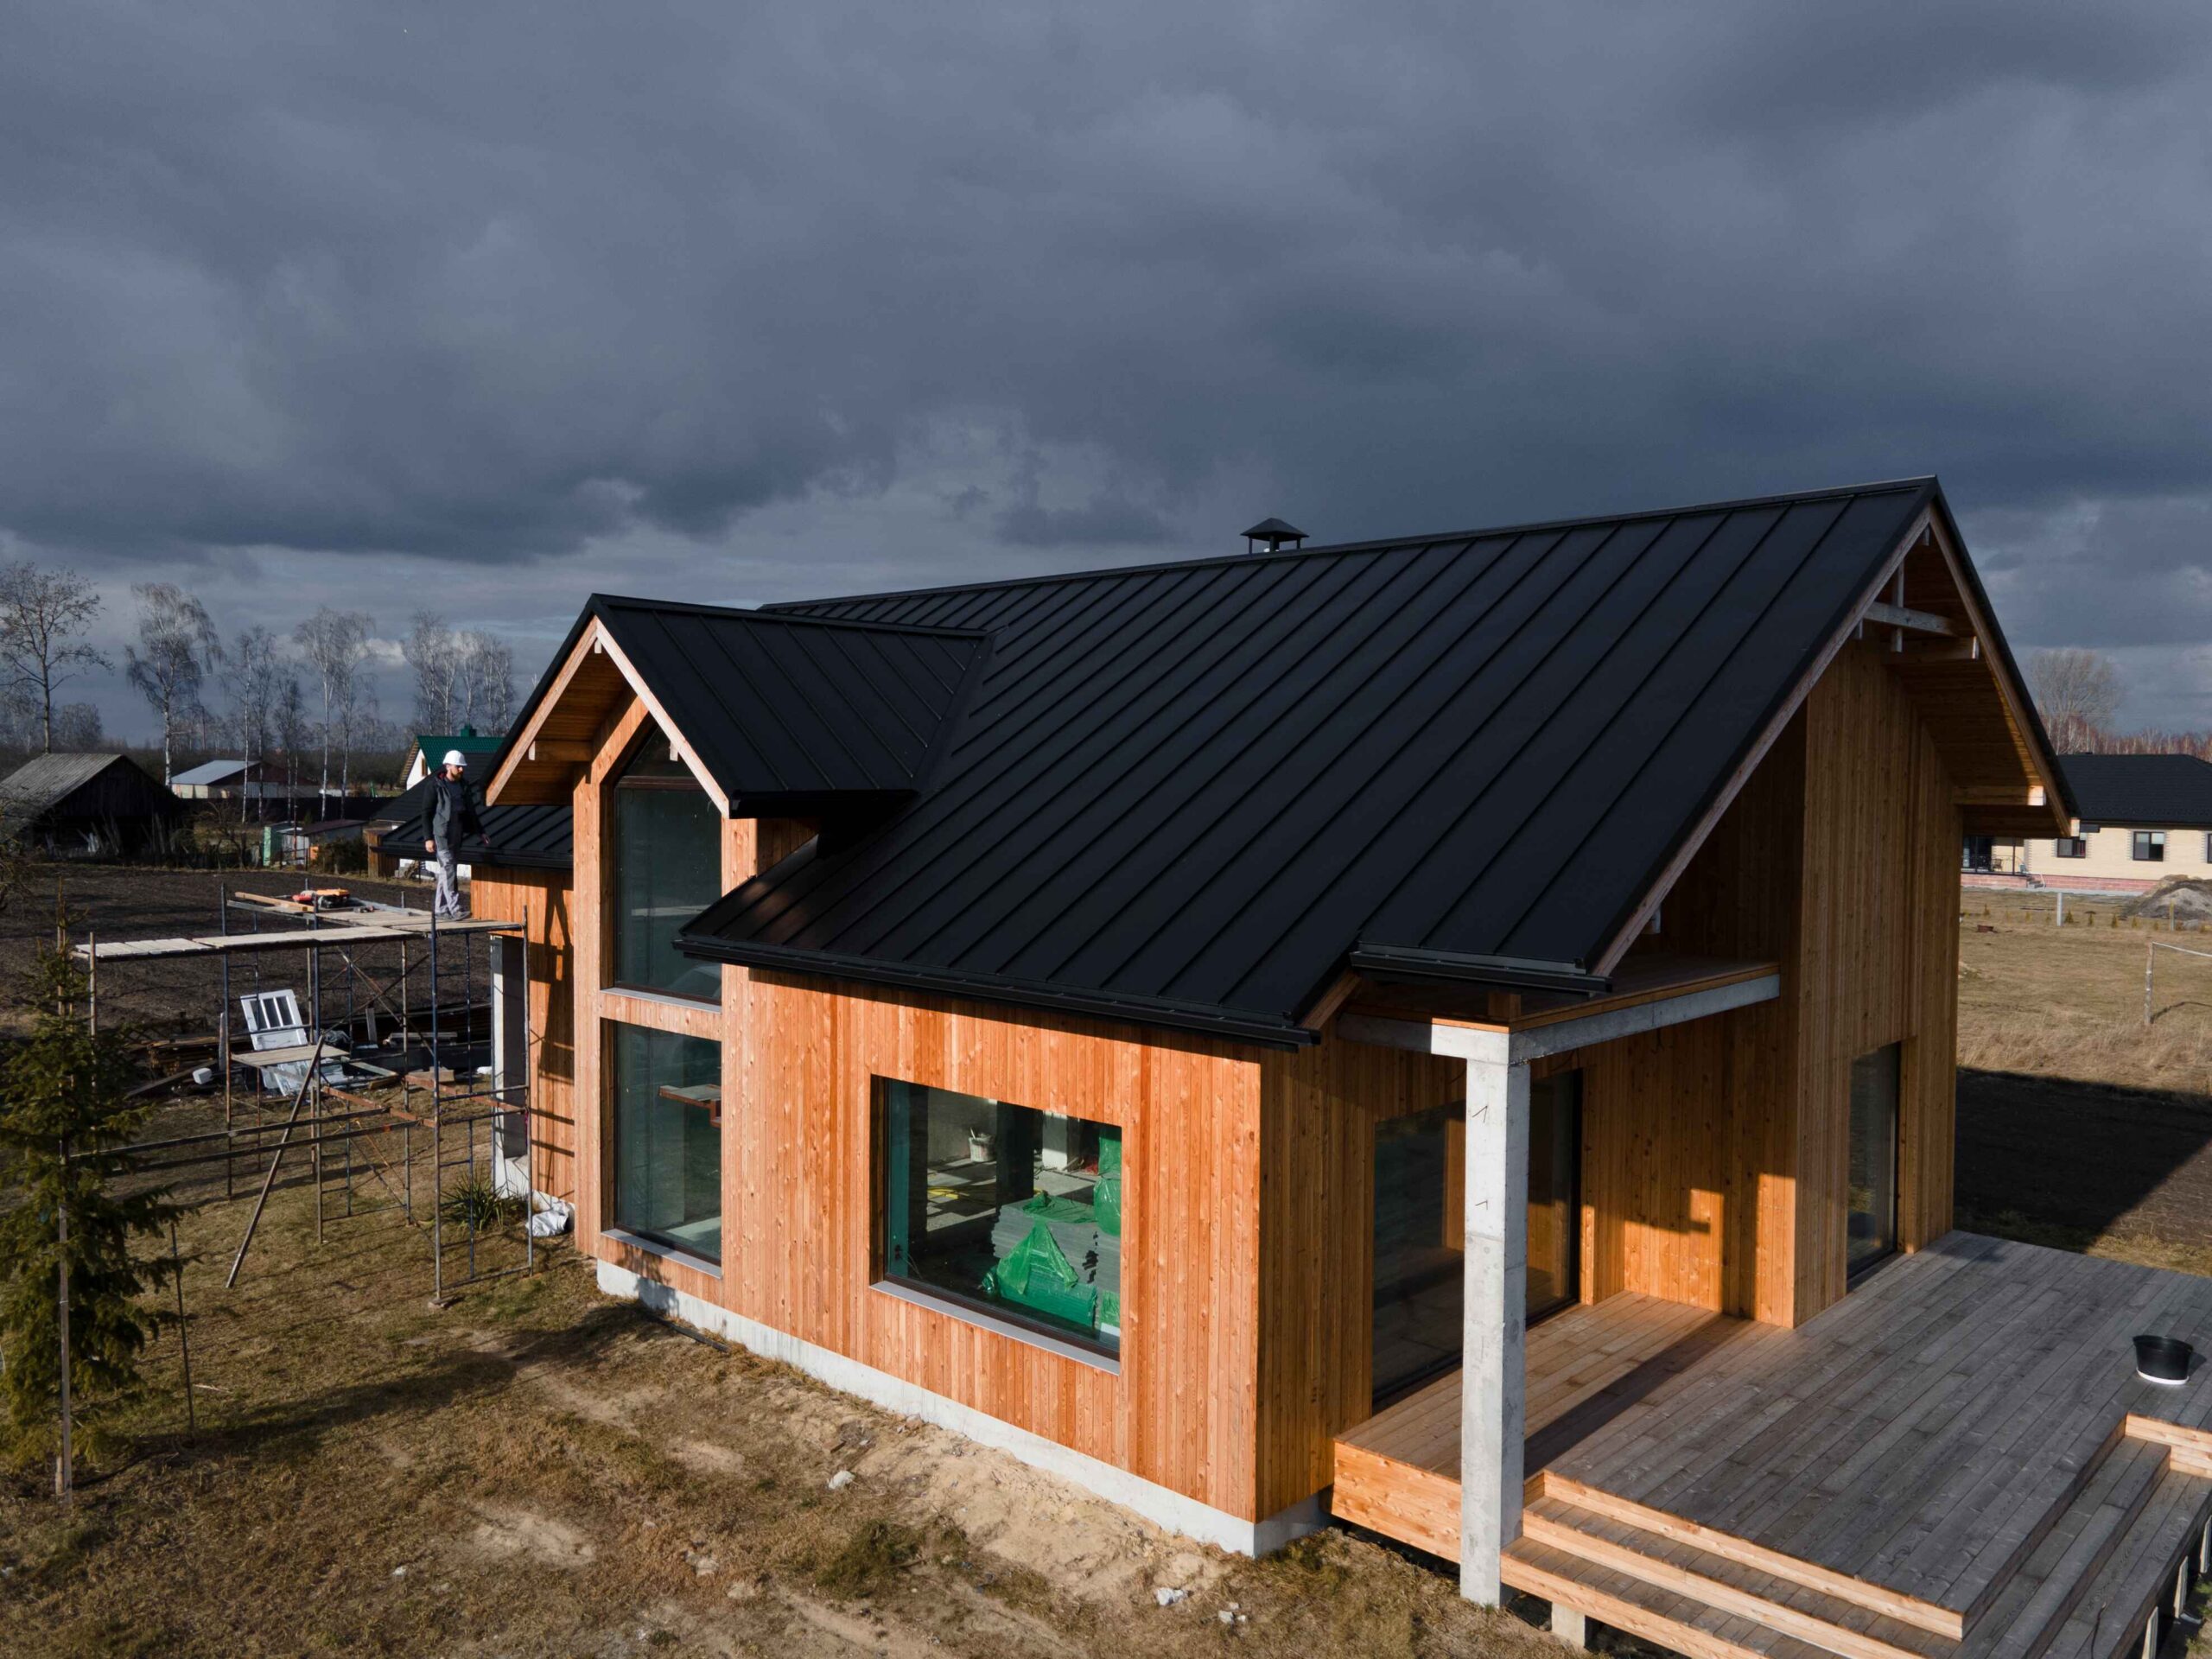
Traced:
<svg viewBox="0 0 2212 1659">
<path fill-rule="evenodd" d="M 615 1225 L 721 1261 L 721 1046 L 615 1026 Z"/>
</svg>

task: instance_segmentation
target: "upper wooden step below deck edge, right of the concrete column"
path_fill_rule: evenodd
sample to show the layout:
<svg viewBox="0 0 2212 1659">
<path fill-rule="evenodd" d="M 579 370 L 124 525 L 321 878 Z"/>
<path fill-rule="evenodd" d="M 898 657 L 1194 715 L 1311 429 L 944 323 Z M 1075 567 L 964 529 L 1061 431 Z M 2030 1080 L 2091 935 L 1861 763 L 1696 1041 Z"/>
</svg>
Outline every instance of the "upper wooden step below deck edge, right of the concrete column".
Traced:
<svg viewBox="0 0 2212 1659">
<path fill-rule="evenodd" d="M 1891 1599 L 1880 1586 L 1838 1586 L 1865 1597 L 1851 1599 L 1670 1535 L 1686 1526 L 1674 1517 L 1648 1513 L 1644 1522 L 1613 1513 L 1610 1504 L 1544 1495 L 1522 1513 L 1522 1537 L 1723 1615 L 1752 1619 L 1840 1659 L 1951 1659 L 1958 1652 L 1955 1639 L 1907 1624 L 1891 1608 L 1867 1606 L 1865 1599 Z"/>
</svg>

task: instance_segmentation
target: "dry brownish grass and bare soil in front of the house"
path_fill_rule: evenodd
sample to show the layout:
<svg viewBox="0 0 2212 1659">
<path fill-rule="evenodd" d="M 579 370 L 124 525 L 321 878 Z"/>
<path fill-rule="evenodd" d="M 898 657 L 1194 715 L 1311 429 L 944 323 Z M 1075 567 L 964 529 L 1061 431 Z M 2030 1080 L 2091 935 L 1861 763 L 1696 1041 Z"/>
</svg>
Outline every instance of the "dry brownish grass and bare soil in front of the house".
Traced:
<svg viewBox="0 0 2212 1659">
<path fill-rule="evenodd" d="M 197 1438 L 164 1347 L 139 1462 L 73 1513 L 0 1491 L 0 1652 L 1557 1652 L 1347 1535 L 1168 1537 L 606 1301 L 566 1245 L 434 1310 L 389 1206 L 316 1248 L 312 1194 L 279 1192 L 226 1294 L 241 1225 L 186 1234 Z"/>
</svg>

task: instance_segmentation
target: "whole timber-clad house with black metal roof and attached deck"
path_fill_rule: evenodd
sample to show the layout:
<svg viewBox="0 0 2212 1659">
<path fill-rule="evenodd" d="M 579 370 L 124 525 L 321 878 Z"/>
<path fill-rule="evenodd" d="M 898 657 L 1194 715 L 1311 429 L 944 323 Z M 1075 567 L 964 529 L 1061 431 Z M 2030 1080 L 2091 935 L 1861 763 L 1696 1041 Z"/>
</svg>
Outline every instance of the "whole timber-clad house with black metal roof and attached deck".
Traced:
<svg viewBox="0 0 2212 1659">
<path fill-rule="evenodd" d="M 1951 1230 L 1960 838 L 2070 814 L 1933 480 L 593 597 L 489 772 L 613 1294 L 1568 1635 L 2106 1659 L 2194 1559 L 2212 1281 Z"/>
</svg>

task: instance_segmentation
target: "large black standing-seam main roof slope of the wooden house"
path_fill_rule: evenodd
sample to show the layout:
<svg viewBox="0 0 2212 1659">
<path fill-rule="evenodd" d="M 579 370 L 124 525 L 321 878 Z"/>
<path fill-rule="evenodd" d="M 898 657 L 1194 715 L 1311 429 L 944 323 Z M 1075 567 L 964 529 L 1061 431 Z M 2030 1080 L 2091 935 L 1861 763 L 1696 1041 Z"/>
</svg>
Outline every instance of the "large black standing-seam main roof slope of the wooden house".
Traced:
<svg viewBox="0 0 2212 1659">
<path fill-rule="evenodd" d="M 779 606 L 991 655 L 927 792 L 684 947 L 1274 1042 L 1347 962 L 1588 982 L 1931 504 L 1920 478 Z"/>
</svg>

